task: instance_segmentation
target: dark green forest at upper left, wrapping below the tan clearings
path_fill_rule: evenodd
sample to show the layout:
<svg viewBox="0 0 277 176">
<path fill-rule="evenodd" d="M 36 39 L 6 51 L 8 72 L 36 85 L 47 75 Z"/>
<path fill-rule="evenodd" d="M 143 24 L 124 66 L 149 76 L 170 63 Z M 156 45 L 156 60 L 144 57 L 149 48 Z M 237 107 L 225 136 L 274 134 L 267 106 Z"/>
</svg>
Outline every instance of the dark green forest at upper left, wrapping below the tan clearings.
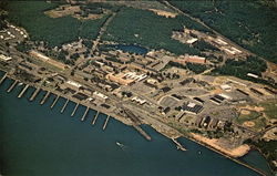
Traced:
<svg viewBox="0 0 277 176">
<path fill-rule="evenodd" d="M 44 11 L 57 8 L 59 2 L 9 1 L 4 9 L 8 20 L 23 27 L 33 41 L 45 41 L 48 46 L 61 46 L 64 43 L 84 39 L 95 39 L 106 17 L 98 20 L 80 21 L 72 17 L 50 18 Z"/>
</svg>

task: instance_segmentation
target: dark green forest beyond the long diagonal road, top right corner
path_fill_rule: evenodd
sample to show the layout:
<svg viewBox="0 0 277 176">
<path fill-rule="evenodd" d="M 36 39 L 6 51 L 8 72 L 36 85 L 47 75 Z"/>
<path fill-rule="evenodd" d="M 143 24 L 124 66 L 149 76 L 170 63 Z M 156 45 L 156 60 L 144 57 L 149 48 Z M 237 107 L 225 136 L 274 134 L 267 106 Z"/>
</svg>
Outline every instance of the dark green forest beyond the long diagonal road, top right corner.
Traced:
<svg viewBox="0 0 277 176">
<path fill-rule="evenodd" d="M 171 1 L 252 52 L 277 63 L 277 10 L 269 0 Z"/>
</svg>

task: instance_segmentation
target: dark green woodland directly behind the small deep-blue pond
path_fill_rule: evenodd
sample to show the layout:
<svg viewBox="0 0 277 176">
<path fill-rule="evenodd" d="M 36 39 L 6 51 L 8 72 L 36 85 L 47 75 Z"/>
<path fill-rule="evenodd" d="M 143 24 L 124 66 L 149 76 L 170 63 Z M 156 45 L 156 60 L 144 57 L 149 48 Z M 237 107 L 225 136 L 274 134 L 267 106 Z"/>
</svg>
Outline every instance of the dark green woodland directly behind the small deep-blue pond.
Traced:
<svg viewBox="0 0 277 176">
<path fill-rule="evenodd" d="M 135 22 L 134 22 L 135 21 Z M 183 25 L 203 28 L 185 17 L 167 19 L 154 12 L 122 8 L 107 27 L 103 40 L 126 44 L 138 44 L 151 49 L 165 49 L 175 54 L 199 54 L 197 49 L 191 48 L 171 39 L 173 30 L 183 29 Z"/>
</svg>

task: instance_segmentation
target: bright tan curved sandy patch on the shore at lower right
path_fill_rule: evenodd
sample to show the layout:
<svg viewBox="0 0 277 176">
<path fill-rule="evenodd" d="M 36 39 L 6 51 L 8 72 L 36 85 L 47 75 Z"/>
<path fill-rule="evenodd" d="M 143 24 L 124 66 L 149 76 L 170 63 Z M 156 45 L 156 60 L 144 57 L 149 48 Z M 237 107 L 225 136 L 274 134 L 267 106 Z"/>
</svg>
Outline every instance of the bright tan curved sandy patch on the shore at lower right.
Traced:
<svg viewBox="0 0 277 176">
<path fill-rule="evenodd" d="M 198 135 L 198 134 L 194 134 L 192 133 L 191 134 L 192 137 L 201 143 L 204 143 L 213 148 L 215 148 L 216 151 L 219 151 L 228 156 L 232 156 L 232 157 L 240 157 L 240 156 L 244 156 L 245 154 L 248 153 L 248 151 L 250 149 L 250 147 L 246 144 L 244 145 L 240 145 L 236 148 L 225 148 L 225 147 L 222 147 L 218 145 L 218 139 L 216 138 L 207 138 L 207 137 L 204 137 L 202 135 Z"/>
</svg>

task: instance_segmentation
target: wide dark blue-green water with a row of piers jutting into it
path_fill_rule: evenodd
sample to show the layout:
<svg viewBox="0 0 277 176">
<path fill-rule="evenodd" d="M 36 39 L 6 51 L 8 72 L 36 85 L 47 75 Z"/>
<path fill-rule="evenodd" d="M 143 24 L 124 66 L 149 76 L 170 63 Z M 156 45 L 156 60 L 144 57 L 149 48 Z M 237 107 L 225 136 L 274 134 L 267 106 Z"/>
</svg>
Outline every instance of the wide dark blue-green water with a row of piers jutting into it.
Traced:
<svg viewBox="0 0 277 176">
<path fill-rule="evenodd" d="M 53 110 L 53 95 L 39 105 L 41 92 L 34 102 L 28 99 L 29 89 L 18 99 L 22 86 L 8 94 L 12 82 L 0 86 L 0 170 L 2 175 L 27 176 L 257 176 L 194 142 L 181 138 L 187 152 L 176 151 L 175 145 L 148 126 L 143 128 L 152 136 L 147 142 L 135 130 L 111 118 L 102 131 L 105 115 L 100 114 L 91 125 L 95 112 L 90 111 L 85 122 L 81 117 L 85 107 L 70 114 L 60 110 L 65 100 L 60 99 Z M 124 148 L 115 143 L 124 144 Z M 202 154 L 198 154 L 198 151 Z M 254 154 L 255 156 L 258 154 Z M 259 163 L 265 164 L 261 158 Z"/>
</svg>

